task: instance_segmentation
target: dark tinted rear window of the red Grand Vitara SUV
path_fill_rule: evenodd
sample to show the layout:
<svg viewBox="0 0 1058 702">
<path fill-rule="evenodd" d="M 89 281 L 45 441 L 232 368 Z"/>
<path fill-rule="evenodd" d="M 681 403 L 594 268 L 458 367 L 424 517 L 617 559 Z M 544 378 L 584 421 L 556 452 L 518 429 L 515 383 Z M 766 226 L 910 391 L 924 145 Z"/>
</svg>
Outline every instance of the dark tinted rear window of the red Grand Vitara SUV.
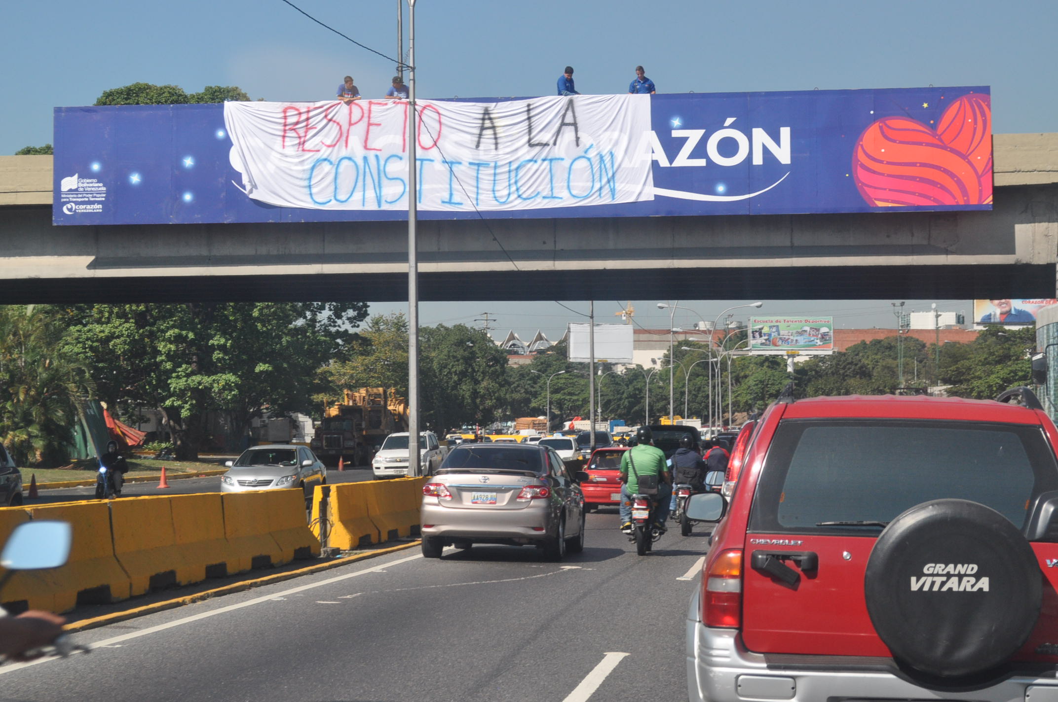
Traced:
<svg viewBox="0 0 1058 702">
<path fill-rule="evenodd" d="M 750 515 L 755 532 L 877 534 L 929 500 L 985 504 L 1023 528 L 1028 505 L 1058 489 L 1038 426 L 923 421 L 790 420 L 779 425 Z"/>
</svg>

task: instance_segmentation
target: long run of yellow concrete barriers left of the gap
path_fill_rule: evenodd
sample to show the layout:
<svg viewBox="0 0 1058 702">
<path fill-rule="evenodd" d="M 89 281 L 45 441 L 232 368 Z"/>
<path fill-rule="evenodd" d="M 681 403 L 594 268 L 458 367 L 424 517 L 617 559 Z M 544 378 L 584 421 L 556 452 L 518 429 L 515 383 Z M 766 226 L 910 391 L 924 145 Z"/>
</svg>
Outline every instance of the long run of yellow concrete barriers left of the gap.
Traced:
<svg viewBox="0 0 1058 702">
<path fill-rule="evenodd" d="M 70 522 L 73 542 L 61 568 L 14 574 L 2 593 L 13 613 L 68 612 L 320 554 L 297 488 L 3 507 L 0 537 L 29 519 Z"/>
</svg>

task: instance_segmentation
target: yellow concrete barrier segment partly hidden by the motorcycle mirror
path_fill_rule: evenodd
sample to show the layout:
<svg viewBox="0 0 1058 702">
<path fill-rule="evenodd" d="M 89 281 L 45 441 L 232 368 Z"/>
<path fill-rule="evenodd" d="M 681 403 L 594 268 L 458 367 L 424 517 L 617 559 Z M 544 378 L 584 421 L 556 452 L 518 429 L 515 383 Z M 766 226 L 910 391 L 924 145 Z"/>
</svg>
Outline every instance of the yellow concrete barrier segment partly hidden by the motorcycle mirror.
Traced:
<svg viewBox="0 0 1058 702">
<path fill-rule="evenodd" d="M 129 596 L 129 576 L 114 555 L 108 502 L 67 502 L 29 512 L 34 519 L 69 521 L 73 528 L 67 565 L 39 571 L 55 597 L 52 611 L 68 612 L 77 605 L 112 603 Z"/>
</svg>

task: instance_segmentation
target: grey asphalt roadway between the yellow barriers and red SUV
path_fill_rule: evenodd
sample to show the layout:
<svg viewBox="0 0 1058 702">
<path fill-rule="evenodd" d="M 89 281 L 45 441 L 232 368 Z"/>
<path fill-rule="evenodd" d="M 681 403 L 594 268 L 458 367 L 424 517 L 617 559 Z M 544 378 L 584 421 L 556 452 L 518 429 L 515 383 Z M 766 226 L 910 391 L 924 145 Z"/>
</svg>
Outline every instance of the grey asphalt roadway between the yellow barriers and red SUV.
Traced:
<svg viewBox="0 0 1058 702">
<path fill-rule="evenodd" d="M 72 635 L 90 654 L 0 666 L 0 700 L 686 700 L 683 621 L 708 548 L 637 556 L 616 511 L 582 554 L 418 548 Z"/>
</svg>

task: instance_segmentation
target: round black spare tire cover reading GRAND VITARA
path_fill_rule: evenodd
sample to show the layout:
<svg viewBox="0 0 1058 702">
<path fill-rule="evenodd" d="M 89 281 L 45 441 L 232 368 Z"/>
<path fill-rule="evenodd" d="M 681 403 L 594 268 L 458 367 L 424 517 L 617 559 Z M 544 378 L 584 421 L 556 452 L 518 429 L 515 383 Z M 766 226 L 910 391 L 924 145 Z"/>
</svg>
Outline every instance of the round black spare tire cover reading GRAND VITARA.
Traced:
<svg viewBox="0 0 1058 702">
<path fill-rule="evenodd" d="M 978 502 L 933 500 L 878 536 L 863 594 L 895 659 L 956 677 L 998 666 L 1024 645 L 1040 614 L 1042 578 L 1006 517 Z"/>
</svg>

